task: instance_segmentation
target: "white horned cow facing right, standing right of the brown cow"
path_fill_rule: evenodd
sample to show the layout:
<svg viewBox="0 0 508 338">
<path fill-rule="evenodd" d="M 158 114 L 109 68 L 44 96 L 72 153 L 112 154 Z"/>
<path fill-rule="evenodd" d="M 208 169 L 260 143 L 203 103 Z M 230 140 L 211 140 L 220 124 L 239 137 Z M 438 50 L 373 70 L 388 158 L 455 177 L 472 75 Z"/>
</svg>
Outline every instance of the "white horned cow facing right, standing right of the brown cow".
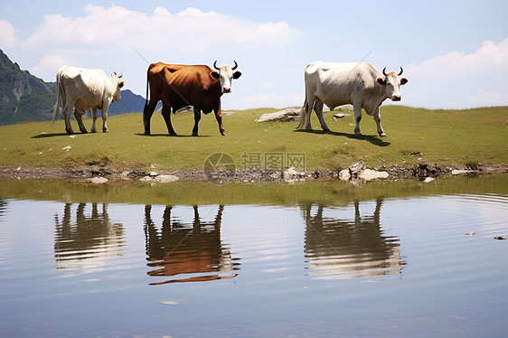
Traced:
<svg viewBox="0 0 508 338">
<path fill-rule="evenodd" d="M 323 105 L 330 109 L 351 103 L 354 109 L 354 135 L 361 136 L 360 120 L 362 108 L 368 115 L 374 117 L 378 127 L 378 133 L 386 137 L 381 127 L 380 106 L 385 99 L 400 101 L 400 85 L 408 82 L 406 78 L 400 78 L 400 72 L 386 72 L 386 67 L 377 70 L 368 62 L 322 62 L 315 61 L 306 67 L 306 100 L 300 112 L 297 128 L 306 125 L 311 130 L 310 115 L 312 108 L 321 122 L 324 131 L 330 131 L 323 118 Z"/>
</svg>

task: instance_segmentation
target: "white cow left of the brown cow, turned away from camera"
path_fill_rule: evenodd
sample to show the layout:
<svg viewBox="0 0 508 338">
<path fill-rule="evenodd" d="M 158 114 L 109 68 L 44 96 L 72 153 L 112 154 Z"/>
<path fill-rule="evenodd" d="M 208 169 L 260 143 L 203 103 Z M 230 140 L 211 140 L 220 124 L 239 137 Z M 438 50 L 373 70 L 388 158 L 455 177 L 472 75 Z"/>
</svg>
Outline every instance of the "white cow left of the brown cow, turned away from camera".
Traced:
<svg viewBox="0 0 508 338">
<path fill-rule="evenodd" d="M 56 121 L 61 103 L 61 115 L 65 120 L 65 131 L 73 134 L 71 127 L 71 112 L 74 109 L 74 117 L 78 121 L 81 133 L 88 133 L 83 125 L 81 115 L 91 108 L 93 123 L 91 132 L 95 133 L 95 121 L 97 120 L 97 109 L 102 110 L 102 131 L 108 133 L 108 108 L 111 102 L 118 102 L 122 99 L 120 89 L 124 87 L 124 81 L 120 80 L 121 75 L 113 75 L 108 78 L 103 70 L 88 70 L 85 68 L 74 68 L 63 66 L 56 74 L 56 104 L 53 112 L 52 122 Z"/>
</svg>

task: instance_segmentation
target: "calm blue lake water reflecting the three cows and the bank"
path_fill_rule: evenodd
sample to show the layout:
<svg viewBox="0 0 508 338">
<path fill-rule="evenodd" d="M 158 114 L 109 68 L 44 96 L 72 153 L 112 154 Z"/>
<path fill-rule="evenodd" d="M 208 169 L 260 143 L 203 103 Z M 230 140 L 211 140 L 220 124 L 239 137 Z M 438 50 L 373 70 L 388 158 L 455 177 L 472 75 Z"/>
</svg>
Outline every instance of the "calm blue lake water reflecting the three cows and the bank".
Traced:
<svg viewBox="0 0 508 338">
<path fill-rule="evenodd" d="M 499 236 L 506 175 L 363 188 L 4 180 L 0 336 L 505 337 Z"/>
</svg>

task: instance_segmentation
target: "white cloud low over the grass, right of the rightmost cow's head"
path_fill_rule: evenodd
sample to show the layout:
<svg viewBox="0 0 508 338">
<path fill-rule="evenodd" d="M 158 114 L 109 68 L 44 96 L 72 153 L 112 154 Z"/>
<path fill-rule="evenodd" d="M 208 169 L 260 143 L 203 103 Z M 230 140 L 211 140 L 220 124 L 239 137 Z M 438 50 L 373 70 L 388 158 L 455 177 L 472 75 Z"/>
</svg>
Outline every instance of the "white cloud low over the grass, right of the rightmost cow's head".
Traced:
<svg viewBox="0 0 508 338">
<path fill-rule="evenodd" d="M 508 105 L 508 38 L 484 41 L 475 52 L 447 52 L 404 67 L 411 106 L 474 108 Z M 404 95 L 404 94 L 403 94 Z M 429 107 L 428 100 L 433 102 Z"/>
</svg>

